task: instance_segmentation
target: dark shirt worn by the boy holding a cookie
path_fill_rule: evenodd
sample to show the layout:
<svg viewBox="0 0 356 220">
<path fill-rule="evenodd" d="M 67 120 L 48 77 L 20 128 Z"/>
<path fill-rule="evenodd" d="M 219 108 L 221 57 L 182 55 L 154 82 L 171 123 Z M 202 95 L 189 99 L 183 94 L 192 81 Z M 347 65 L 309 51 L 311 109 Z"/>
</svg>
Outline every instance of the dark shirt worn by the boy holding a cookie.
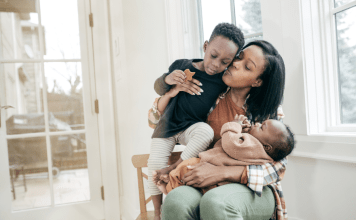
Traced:
<svg viewBox="0 0 356 220">
<path fill-rule="evenodd" d="M 155 91 L 159 95 L 164 95 L 172 86 L 165 83 L 165 78 L 174 70 L 189 69 L 195 72 L 193 78 L 199 80 L 203 86 L 204 92 L 201 95 L 190 95 L 186 92 L 179 92 L 168 103 L 164 113 L 161 116 L 152 138 L 168 138 L 183 131 L 197 122 L 205 122 L 210 108 L 218 98 L 219 94 L 224 92 L 227 86 L 222 80 L 223 72 L 215 75 L 208 75 L 193 66 L 195 60 L 176 60 L 170 67 L 169 72 L 163 74 L 155 82 Z"/>
</svg>

